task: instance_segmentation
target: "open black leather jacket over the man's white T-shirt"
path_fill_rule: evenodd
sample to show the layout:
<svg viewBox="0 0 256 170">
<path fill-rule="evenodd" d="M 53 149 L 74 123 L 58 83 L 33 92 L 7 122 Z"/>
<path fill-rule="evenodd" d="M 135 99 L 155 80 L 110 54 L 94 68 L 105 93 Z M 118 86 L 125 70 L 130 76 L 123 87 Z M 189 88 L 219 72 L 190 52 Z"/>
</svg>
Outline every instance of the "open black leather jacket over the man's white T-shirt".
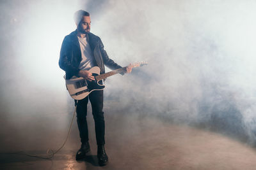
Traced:
<svg viewBox="0 0 256 170">
<path fill-rule="evenodd" d="M 104 50 L 102 41 L 98 36 L 90 32 L 86 38 L 88 38 L 88 42 L 92 48 L 96 64 L 100 67 L 100 74 L 105 73 L 104 65 L 108 66 L 110 69 L 118 69 L 121 67 L 113 60 L 109 59 L 108 54 Z M 60 50 L 59 66 L 66 72 L 66 79 L 70 79 L 74 75 L 78 76 L 78 72 L 80 71 L 78 67 L 81 59 L 81 48 L 77 38 L 77 32 L 73 31 L 65 36 Z"/>
</svg>

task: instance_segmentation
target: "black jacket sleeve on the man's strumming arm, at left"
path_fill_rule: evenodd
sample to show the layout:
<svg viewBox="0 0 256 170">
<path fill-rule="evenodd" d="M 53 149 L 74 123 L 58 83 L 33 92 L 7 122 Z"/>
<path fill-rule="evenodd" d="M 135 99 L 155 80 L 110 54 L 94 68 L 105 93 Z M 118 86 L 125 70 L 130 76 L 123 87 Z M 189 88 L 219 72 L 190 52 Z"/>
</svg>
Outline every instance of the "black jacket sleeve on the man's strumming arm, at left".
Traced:
<svg viewBox="0 0 256 170">
<path fill-rule="evenodd" d="M 72 66 L 71 60 L 73 58 L 73 52 L 72 52 L 72 43 L 70 38 L 68 36 L 65 36 L 60 50 L 60 60 L 59 60 L 59 66 L 61 69 L 66 71 L 66 73 L 76 75 L 80 71 L 77 67 Z"/>
</svg>

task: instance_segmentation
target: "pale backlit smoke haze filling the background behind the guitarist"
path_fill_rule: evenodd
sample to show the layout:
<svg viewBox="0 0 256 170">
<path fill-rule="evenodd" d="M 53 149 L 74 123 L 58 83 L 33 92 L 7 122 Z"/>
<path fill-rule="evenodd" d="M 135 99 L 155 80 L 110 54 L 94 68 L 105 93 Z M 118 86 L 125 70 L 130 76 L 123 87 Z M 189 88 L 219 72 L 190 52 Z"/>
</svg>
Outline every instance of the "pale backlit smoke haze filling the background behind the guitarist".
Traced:
<svg viewBox="0 0 256 170">
<path fill-rule="evenodd" d="M 231 0 L 2 1 L 1 123 L 12 130 L 1 134 L 23 138 L 68 127 L 74 102 L 58 59 L 64 36 L 76 29 L 73 13 L 83 9 L 111 59 L 148 62 L 106 80 L 105 108 L 254 146 L 255 8 L 255 1 Z"/>
</svg>

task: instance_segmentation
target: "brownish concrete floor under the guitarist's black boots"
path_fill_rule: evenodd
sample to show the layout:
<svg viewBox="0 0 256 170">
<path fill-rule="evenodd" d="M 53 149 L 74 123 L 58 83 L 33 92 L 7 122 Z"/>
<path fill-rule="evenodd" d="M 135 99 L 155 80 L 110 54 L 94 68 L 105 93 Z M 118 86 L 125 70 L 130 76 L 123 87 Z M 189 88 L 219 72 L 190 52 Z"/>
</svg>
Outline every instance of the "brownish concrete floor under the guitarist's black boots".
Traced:
<svg viewBox="0 0 256 170">
<path fill-rule="evenodd" d="M 109 164 L 100 167 L 97 163 L 97 146 L 93 131 L 92 114 L 88 114 L 91 152 L 88 157 L 76 161 L 79 136 L 76 121 L 65 147 L 51 159 L 28 157 L 14 152 L 11 146 L 1 153 L 0 169 L 255 169 L 256 151 L 250 146 L 185 125 L 163 123 L 153 117 L 138 114 L 110 113 L 106 108 L 106 152 Z M 68 121 L 67 121 L 68 122 Z M 70 121 L 69 121 L 70 122 Z M 67 126 L 68 127 L 68 126 Z M 56 150 L 67 134 L 51 132 L 51 137 L 42 136 L 39 144 L 21 147 L 31 154 L 45 155 L 50 144 Z M 62 136 L 51 139 L 52 136 Z M 32 138 L 32 137 L 31 137 Z M 35 137 L 36 138 L 36 137 Z M 19 143 L 26 141 L 19 139 Z M 17 139 L 18 140 L 18 139 Z M 56 143 L 58 141 L 58 143 Z M 17 146 L 15 146 L 17 147 Z M 15 148 L 19 151 L 19 147 Z"/>
</svg>

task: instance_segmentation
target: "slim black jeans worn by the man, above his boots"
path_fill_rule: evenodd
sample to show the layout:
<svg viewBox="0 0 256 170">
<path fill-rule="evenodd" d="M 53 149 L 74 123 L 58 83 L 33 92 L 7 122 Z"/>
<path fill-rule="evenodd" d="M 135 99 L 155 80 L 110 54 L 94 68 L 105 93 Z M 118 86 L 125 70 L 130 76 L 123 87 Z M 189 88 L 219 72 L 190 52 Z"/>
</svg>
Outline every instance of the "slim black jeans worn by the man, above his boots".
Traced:
<svg viewBox="0 0 256 170">
<path fill-rule="evenodd" d="M 92 114 L 95 122 L 95 134 L 97 145 L 105 144 L 105 121 L 103 110 L 103 90 L 95 90 L 91 92 L 83 100 L 77 102 L 77 125 L 79 129 L 79 135 L 81 138 L 81 143 L 86 143 L 88 138 L 88 126 L 87 126 L 87 104 L 88 98 L 92 104 Z"/>
</svg>

